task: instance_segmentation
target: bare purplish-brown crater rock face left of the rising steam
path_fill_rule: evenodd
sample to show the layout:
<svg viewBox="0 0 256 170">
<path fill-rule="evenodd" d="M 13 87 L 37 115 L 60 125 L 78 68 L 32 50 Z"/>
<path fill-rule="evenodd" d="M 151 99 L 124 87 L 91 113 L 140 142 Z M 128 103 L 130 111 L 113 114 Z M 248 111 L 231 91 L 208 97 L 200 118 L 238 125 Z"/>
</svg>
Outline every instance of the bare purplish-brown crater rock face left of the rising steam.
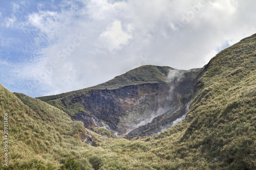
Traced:
<svg viewBox="0 0 256 170">
<path fill-rule="evenodd" d="M 105 128 L 117 137 L 123 136 L 172 107 L 170 84 L 146 83 L 113 90 L 90 90 L 73 101 L 82 104 L 91 115 L 79 112 L 72 118 L 86 127 Z"/>
</svg>

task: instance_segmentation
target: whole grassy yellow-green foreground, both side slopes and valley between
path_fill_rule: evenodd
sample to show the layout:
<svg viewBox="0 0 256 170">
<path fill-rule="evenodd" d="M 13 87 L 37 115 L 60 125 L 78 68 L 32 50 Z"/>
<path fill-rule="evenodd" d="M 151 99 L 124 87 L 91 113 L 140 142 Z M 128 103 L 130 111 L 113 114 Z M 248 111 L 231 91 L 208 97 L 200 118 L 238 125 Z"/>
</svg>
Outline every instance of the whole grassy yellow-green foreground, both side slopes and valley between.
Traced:
<svg viewBox="0 0 256 170">
<path fill-rule="evenodd" d="M 98 133 L 108 136 L 103 137 L 84 128 L 83 123 L 72 121 L 69 116 L 76 114 L 77 107 L 86 111 L 83 105 L 65 108 L 57 103 L 69 111 L 68 115 L 61 108 L 11 93 L 0 85 L 0 135 L 4 136 L 3 113 L 8 113 L 9 128 L 8 166 L 2 163 L 0 169 L 256 169 L 255 59 L 256 34 L 226 48 L 196 78 L 191 78 L 194 92 L 189 94 L 191 101 L 188 100 L 189 109 L 182 122 L 159 134 L 131 140 L 113 138 L 98 128 Z M 163 75 L 168 77 L 168 71 Z M 175 79 L 178 81 L 178 77 Z M 145 84 L 156 83 L 172 84 L 172 79 Z M 120 89 L 126 86 L 143 89 L 143 83 Z M 118 89 L 119 86 L 107 90 Z M 103 86 L 87 90 L 106 93 Z M 63 98 L 65 103 L 74 99 L 70 95 L 73 93 L 44 99 L 50 103 Z M 144 131 L 147 127 L 141 128 Z M 0 147 L 0 160 L 4 162 L 4 142 Z"/>
</svg>

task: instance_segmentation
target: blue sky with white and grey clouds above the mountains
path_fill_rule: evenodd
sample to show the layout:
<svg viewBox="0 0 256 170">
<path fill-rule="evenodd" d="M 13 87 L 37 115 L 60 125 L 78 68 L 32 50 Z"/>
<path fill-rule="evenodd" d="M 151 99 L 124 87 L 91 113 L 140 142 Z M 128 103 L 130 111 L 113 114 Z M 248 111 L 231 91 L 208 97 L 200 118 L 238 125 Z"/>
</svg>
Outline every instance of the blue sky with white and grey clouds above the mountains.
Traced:
<svg viewBox="0 0 256 170">
<path fill-rule="evenodd" d="M 256 33 L 254 0 L 0 0 L 0 83 L 32 97 L 141 65 L 203 67 Z"/>
</svg>

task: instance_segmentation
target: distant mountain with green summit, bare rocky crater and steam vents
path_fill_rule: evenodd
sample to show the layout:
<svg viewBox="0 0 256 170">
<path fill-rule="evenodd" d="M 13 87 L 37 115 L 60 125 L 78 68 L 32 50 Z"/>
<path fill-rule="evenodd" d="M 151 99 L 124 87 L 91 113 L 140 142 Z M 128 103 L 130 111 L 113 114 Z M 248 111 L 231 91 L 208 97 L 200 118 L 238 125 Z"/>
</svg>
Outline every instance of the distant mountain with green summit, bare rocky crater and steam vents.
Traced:
<svg viewBox="0 0 256 170">
<path fill-rule="evenodd" d="M 184 117 L 200 71 L 145 65 L 91 88 L 38 99 L 95 132 L 103 128 L 127 139 L 152 136 Z"/>
</svg>

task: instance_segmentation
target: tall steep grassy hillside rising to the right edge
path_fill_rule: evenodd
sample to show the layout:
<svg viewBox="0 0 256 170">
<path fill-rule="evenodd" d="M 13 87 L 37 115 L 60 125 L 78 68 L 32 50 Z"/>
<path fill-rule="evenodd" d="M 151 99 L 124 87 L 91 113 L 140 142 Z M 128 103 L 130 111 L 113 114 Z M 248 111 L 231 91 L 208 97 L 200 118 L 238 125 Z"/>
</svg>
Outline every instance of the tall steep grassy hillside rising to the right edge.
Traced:
<svg viewBox="0 0 256 170">
<path fill-rule="evenodd" d="M 256 34 L 212 58 L 180 142 L 211 168 L 256 169 Z"/>
</svg>

